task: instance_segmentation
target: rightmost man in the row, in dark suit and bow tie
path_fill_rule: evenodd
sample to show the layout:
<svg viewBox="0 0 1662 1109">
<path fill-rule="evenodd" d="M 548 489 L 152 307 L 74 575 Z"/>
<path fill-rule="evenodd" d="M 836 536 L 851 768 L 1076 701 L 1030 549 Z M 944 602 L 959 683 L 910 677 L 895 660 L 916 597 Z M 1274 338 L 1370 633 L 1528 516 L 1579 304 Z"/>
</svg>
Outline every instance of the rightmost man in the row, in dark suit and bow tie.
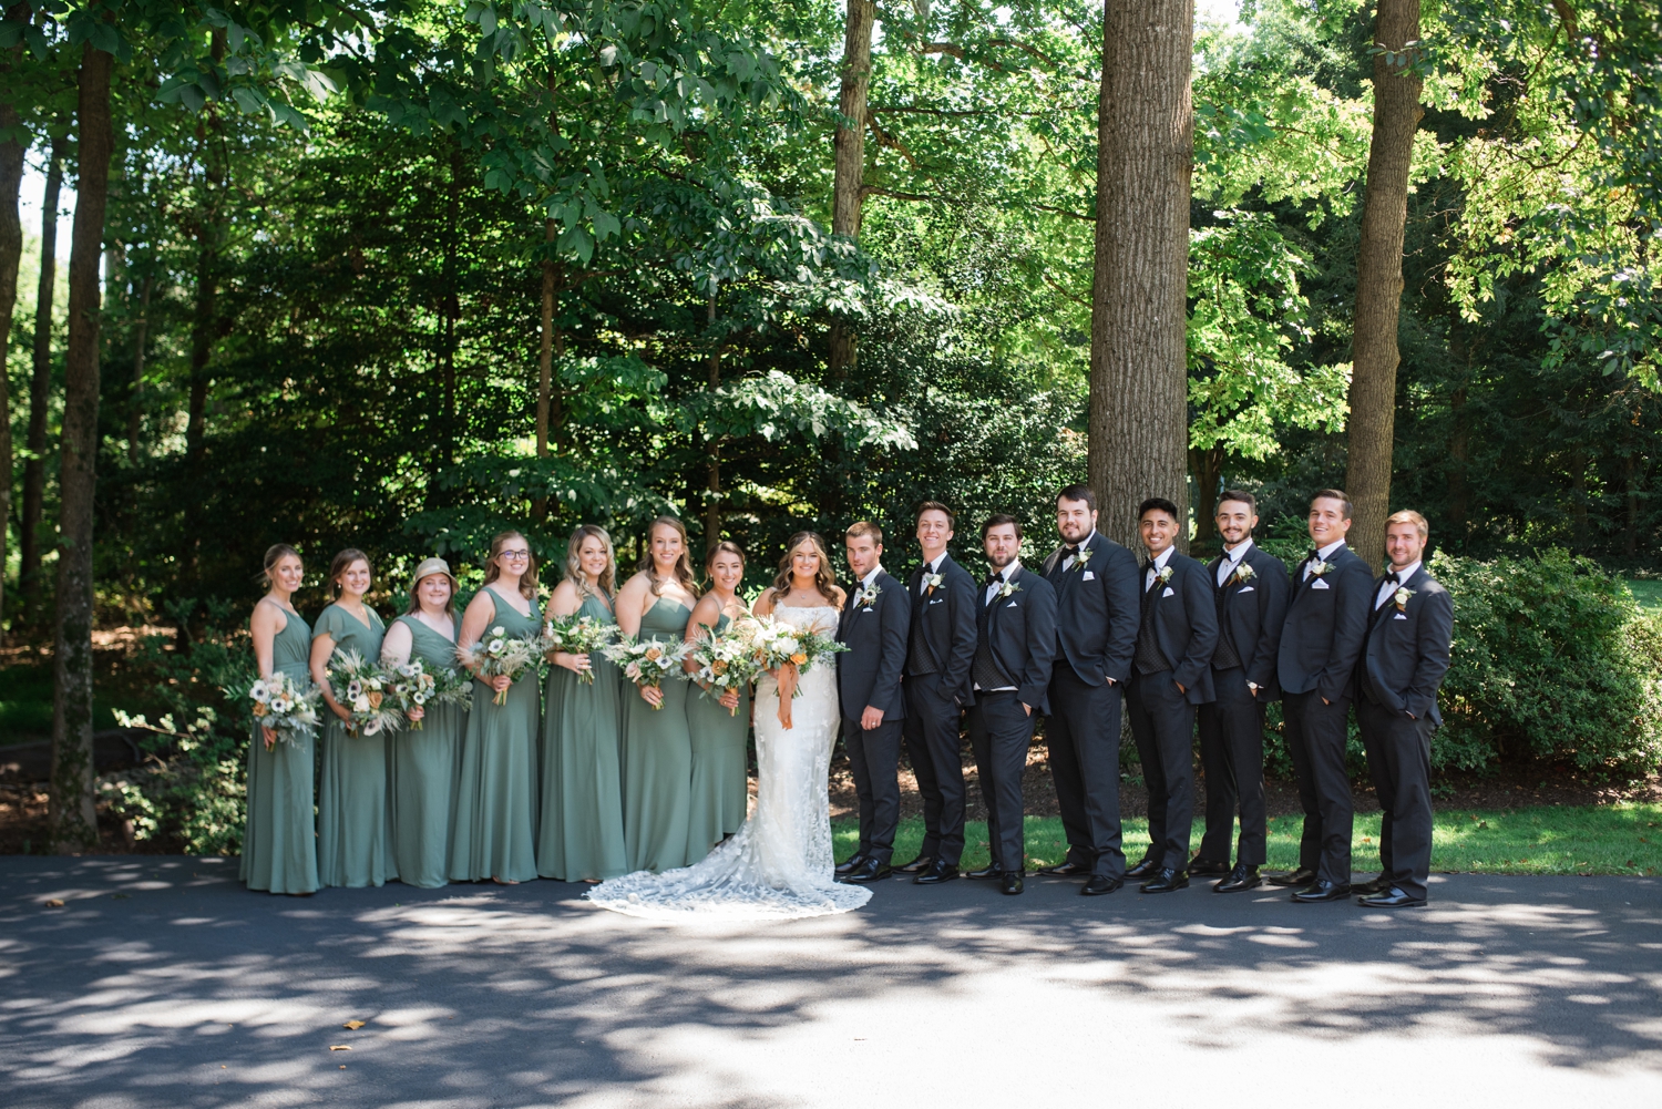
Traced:
<svg viewBox="0 0 1662 1109">
<path fill-rule="evenodd" d="M 1356 886 L 1368 908 L 1424 904 L 1431 875 L 1431 733 L 1443 725 L 1438 687 L 1449 668 L 1454 602 L 1423 564 L 1428 530 L 1418 512 L 1386 519 L 1391 569 L 1374 584 L 1356 667 L 1356 725 L 1384 810 L 1379 876 Z"/>
</svg>

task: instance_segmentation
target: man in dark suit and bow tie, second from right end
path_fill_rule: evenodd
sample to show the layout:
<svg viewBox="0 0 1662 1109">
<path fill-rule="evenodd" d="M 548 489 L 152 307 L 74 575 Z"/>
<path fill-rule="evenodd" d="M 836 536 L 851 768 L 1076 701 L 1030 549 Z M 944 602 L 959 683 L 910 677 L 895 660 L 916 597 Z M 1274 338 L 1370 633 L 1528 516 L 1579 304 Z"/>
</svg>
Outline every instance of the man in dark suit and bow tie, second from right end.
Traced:
<svg viewBox="0 0 1662 1109">
<path fill-rule="evenodd" d="M 1293 570 L 1276 657 L 1286 752 L 1298 775 L 1305 835 L 1298 870 L 1271 881 L 1300 886 L 1293 900 L 1303 903 L 1350 898 L 1356 805 L 1345 771 L 1345 725 L 1373 600 L 1368 564 L 1345 545 L 1351 510 L 1350 495 L 1338 489 L 1323 489 L 1311 499 L 1310 539 L 1316 547 Z"/>
</svg>

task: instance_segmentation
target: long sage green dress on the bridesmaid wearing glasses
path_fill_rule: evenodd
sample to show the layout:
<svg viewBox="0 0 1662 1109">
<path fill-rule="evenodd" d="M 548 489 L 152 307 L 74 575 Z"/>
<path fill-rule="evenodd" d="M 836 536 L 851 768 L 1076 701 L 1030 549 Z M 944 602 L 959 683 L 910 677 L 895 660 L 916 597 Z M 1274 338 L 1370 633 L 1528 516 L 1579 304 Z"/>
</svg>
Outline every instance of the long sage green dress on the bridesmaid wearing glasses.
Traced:
<svg viewBox="0 0 1662 1109">
<path fill-rule="evenodd" d="M 530 615 L 485 585 L 495 614 L 490 628 L 509 635 L 542 632 L 532 602 Z M 529 668 L 509 687 L 507 702 L 474 682 L 474 710 L 462 740 L 462 776 L 455 796 L 455 841 L 450 846 L 450 880 L 529 881 L 537 876 L 537 733 L 542 710 L 537 670 Z"/>
</svg>

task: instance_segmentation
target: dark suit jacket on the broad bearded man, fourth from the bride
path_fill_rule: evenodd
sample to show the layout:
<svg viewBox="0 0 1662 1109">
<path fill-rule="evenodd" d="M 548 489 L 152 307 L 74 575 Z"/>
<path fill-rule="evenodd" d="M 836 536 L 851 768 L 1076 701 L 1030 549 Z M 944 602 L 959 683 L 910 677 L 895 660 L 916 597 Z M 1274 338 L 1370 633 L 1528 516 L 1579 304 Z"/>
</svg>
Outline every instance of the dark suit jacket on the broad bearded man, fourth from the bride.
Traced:
<svg viewBox="0 0 1662 1109">
<path fill-rule="evenodd" d="M 1057 657 L 1067 658 L 1085 685 L 1107 678 L 1124 685 L 1132 675 L 1142 620 L 1142 570 L 1130 550 L 1100 532 L 1085 540 L 1085 565 L 1075 562 L 1064 570 L 1065 547 L 1052 550 L 1044 564 L 1045 580 L 1055 587 Z"/>
</svg>

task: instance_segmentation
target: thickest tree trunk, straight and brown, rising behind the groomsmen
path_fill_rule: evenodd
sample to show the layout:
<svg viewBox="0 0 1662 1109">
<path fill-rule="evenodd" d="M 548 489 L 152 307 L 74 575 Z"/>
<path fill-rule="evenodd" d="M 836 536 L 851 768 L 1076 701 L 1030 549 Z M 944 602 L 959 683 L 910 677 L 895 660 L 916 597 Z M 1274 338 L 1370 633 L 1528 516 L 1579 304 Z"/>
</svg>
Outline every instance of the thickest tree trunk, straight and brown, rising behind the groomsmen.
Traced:
<svg viewBox="0 0 1662 1109">
<path fill-rule="evenodd" d="M 1143 497 L 1188 512 L 1183 346 L 1193 111 L 1192 0 L 1105 0 L 1090 298 L 1090 484 L 1133 545 Z M 1188 529 L 1178 534 L 1188 549 Z"/>
</svg>

